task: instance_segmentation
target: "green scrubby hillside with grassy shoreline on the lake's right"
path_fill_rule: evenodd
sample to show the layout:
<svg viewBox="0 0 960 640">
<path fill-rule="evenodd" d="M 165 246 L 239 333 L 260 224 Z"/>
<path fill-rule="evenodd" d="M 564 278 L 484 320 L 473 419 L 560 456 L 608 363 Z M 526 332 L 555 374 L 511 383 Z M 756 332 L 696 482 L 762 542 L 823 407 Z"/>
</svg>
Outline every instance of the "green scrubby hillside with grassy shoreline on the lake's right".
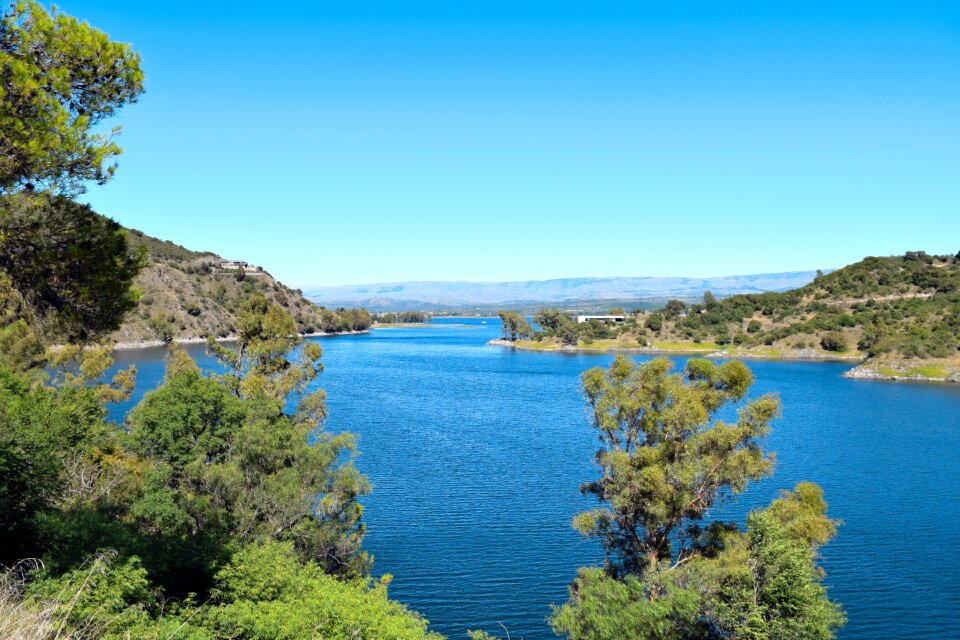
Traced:
<svg viewBox="0 0 960 640">
<path fill-rule="evenodd" d="M 566 338 L 548 326 L 537 338 L 531 347 L 576 339 L 580 348 L 868 358 L 854 377 L 960 379 L 960 256 L 870 257 L 790 291 L 674 301 L 619 326 L 587 323 Z"/>
</svg>

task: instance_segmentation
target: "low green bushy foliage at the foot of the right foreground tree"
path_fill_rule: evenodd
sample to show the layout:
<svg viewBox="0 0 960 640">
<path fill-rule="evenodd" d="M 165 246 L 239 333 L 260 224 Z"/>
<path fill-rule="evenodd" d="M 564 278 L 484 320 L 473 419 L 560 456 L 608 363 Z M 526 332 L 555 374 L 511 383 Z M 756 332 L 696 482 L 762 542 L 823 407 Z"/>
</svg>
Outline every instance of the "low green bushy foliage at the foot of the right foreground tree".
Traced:
<svg viewBox="0 0 960 640">
<path fill-rule="evenodd" d="M 619 579 L 581 569 L 551 625 L 571 640 L 833 638 L 845 618 L 816 550 L 834 527 L 819 487 L 801 483 L 750 513 L 745 532 L 718 528 L 718 544 L 669 568 Z"/>
</svg>

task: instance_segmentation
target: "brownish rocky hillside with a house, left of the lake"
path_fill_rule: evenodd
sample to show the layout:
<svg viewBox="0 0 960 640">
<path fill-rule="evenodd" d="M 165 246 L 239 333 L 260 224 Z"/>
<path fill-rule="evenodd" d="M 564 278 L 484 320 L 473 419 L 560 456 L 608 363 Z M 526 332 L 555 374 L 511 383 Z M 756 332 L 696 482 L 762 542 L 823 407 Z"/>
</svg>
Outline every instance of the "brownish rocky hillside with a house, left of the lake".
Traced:
<svg viewBox="0 0 960 640">
<path fill-rule="evenodd" d="M 146 252 L 147 265 L 137 277 L 142 291 L 137 308 L 110 338 L 117 343 L 227 337 L 235 329 L 240 302 L 254 292 L 283 306 L 305 334 L 364 330 L 366 311 L 331 311 L 275 280 L 259 267 L 191 251 L 170 241 L 128 230 L 135 250 Z"/>
</svg>

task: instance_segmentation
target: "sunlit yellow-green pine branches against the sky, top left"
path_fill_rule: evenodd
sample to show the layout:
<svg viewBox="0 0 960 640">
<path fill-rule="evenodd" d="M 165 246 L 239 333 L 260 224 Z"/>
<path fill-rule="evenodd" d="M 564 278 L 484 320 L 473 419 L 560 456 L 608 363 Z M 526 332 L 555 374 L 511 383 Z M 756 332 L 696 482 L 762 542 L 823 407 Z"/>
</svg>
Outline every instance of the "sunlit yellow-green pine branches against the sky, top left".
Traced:
<svg viewBox="0 0 960 640">
<path fill-rule="evenodd" d="M 0 193 L 76 195 L 113 176 L 119 127 L 101 122 L 143 92 L 140 55 L 39 2 L 0 19 Z"/>
</svg>

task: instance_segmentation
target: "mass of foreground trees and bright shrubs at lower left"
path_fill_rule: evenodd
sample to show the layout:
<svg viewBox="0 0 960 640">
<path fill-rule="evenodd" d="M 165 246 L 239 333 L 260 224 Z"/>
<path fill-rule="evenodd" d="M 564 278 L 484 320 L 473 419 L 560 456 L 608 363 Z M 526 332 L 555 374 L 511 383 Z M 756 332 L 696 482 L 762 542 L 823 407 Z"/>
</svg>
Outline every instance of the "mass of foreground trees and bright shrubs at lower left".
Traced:
<svg viewBox="0 0 960 640">
<path fill-rule="evenodd" d="M 433 637 L 366 577 L 369 484 L 354 437 L 320 427 L 319 346 L 264 297 L 240 325 L 236 349 L 212 345 L 223 374 L 172 348 L 123 430 L 104 402 L 132 372 L 96 384 L 105 352 L 67 349 L 41 384 L 0 368 L 0 563 L 42 559 L 0 607 L 58 621 L 57 637 Z"/>
</svg>

